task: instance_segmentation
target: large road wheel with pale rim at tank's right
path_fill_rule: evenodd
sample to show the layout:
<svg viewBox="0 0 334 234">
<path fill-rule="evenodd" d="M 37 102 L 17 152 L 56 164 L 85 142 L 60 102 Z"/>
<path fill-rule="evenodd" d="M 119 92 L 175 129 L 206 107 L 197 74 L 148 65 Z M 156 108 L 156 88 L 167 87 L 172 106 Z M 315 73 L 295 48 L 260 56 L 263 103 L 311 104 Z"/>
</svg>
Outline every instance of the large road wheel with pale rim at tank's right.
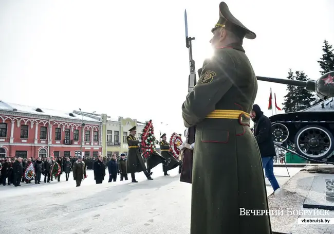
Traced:
<svg viewBox="0 0 334 234">
<path fill-rule="evenodd" d="M 306 126 L 294 138 L 296 150 L 310 159 L 322 159 L 334 149 L 333 135 L 321 126 Z"/>
</svg>

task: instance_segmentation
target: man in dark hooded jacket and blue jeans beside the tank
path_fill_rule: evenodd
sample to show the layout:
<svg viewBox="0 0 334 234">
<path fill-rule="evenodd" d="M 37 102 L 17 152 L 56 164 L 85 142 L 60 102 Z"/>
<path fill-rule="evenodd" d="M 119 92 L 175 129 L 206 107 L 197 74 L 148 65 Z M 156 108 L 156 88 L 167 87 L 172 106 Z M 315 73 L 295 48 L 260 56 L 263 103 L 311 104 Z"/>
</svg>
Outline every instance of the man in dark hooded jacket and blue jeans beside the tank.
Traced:
<svg viewBox="0 0 334 234">
<path fill-rule="evenodd" d="M 265 169 L 266 176 L 275 191 L 276 189 L 279 189 L 280 186 L 274 175 L 273 159 L 276 155 L 276 151 L 271 133 L 271 121 L 263 114 L 261 108 L 257 104 L 253 105 L 251 118 L 254 121 L 254 136 L 262 157 L 263 168 Z"/>
</svg>

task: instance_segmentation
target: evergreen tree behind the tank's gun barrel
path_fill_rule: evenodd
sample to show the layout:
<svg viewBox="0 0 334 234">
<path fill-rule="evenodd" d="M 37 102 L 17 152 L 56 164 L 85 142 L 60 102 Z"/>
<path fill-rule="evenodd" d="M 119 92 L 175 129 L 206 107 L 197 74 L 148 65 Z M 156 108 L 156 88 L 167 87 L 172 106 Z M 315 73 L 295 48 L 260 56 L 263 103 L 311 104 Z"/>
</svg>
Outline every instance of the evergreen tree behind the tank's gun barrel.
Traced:
<svg viewBox="0 0 334 234">
<path fill-rule="evenodd" d="M 300 80 L 307 81 L 307 76 L 303 71 L 295 71 L 295 75 L 292 70 L 289 70 L 288 77 L 289 80 Z M 307 91 L 304 87 L 296 87 L 293 85 L 288 85 L 288 94 L 284 96 L 283 110 L 285 112 L 296 112 L 305 110 L 306 108 L 312 106 L 317 102 L 317 98 L 313 93 Z"/>
</svg>

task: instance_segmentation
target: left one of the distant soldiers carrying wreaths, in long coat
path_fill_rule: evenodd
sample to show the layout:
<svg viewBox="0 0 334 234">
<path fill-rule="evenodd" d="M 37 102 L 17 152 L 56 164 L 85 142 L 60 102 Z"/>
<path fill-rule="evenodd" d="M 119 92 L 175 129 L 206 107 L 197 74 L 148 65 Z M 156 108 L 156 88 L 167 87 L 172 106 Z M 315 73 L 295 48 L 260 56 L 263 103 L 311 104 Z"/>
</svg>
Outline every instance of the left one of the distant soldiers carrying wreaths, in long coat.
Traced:
<svg viewBox="0 0 334 234">
<path fill-rule="evenodd" d="M 141 140 L 138 140 L 136 135 L 136 126 L 129 130 L 130 135 L 126 137 L 128 145 L 128 155 L 127 155 L 127 173 L 131 173 L 131 178 L 133 183 L 137 183 L 135 173 L 143 171 L 147 179 L 151 178 L 150 173 L 147 171 L 144 160 L 140 153 L 140 146 L 138 145 Z"/>
</svg>

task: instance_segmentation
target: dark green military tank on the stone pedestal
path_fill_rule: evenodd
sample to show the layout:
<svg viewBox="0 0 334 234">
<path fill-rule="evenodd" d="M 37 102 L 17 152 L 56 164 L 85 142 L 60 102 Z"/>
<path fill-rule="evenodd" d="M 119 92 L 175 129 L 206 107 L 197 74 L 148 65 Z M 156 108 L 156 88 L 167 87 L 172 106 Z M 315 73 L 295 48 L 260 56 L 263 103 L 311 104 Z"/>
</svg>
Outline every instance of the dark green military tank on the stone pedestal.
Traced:
<svg viewBox="0 0 334 234">
<path fill-rule="evenodd" d="M 334 164 L 334 71 L 318 80 L 308 81 L 256 78 L 259 81 L 305 87 L 323 99 L 305 110 L 273 115 L 269 119 L 277 147 L 310 161 Z"/>
</svg>

